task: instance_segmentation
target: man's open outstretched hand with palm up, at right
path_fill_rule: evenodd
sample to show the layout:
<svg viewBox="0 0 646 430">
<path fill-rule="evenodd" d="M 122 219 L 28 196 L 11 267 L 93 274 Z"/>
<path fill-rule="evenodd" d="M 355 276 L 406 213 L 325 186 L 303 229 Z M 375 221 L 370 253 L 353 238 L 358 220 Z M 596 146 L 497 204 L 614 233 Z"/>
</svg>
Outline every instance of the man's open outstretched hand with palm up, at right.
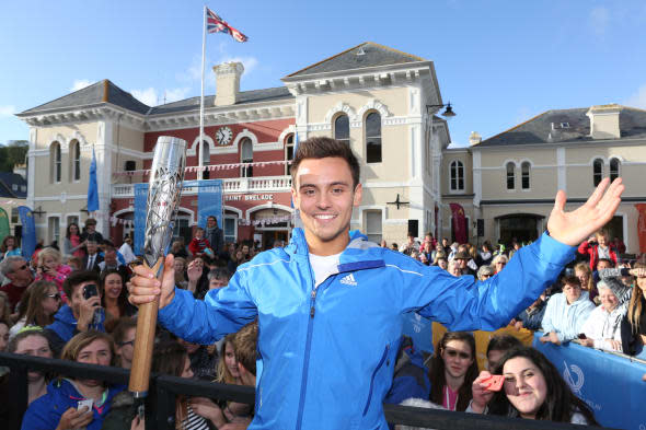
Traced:
<svg viewBox="0 0 646 430">
<path fill-rule="evenodd" d="M 558 190 L 547 221 L 550 235 L 566 245 L 578 246 L 590 234 L 605 225 L 619 208 L 625 188 L 621 177 L 614 179 L 610 187 L 609 183 L 609 178 L 601 181 L 588 201 L 572 212 L 565 211 L 565 193 Z"/>
</svg>

